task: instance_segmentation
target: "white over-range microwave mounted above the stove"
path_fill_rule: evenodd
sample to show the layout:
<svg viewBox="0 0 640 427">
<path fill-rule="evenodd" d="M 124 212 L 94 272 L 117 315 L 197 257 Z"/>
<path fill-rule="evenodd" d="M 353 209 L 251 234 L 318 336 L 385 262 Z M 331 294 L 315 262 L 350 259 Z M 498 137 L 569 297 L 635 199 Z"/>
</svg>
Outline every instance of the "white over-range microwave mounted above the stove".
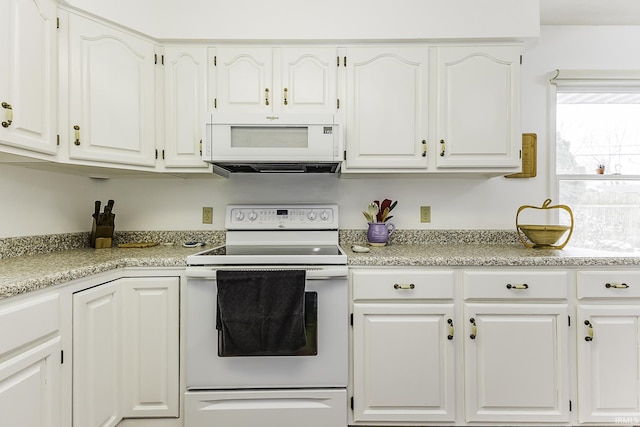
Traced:
<svg viewBox="0 0 640 427">
<path fill-rule="evenodd" d="M 214 172 L 335 173 L 342 126 L 334 114 L 209 113 L 202 158 Z"/>
</svg>

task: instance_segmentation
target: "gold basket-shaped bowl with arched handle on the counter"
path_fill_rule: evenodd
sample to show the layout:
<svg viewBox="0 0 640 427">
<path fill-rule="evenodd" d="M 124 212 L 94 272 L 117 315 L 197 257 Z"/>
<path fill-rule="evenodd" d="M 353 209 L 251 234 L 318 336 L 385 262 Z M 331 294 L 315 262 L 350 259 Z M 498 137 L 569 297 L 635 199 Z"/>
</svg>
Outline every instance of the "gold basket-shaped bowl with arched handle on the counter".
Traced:
<svg viewBox="0 0 640 427">
<path fill-rule="evenodd" d="M 518 232 L 518 238 L 522 242 L 522 244 L 527 248 L 550 248 L 550 249 L 562 249 L 564 248 L 569 239 L 571 238 L 571 234 L 573 234 L 573 212 L 571 212 L 571 208 L 566 205 L 556 205 L 550 206 L 551 199 L 547 199 L 544 201 L 542 206 L 520 206 L 518 212 L 516 213 L 516 231 Z M 571 219 L 571 225 L 531 225 L 531 224 L 520 224 L 518 222 L 518 217 L 520 216 L 520 212 L 524 209 L 538 209 L 538 210 L 546 210 L 546 209 L 562 209 L 568 212 L 569 218 Z M 569 234 L 565 237 L 562 243 L 558 242 L 565 235 L 565 233 L 569 231 Z M 523 237 L 526 236 L 526 239 Z"/>
</svg>

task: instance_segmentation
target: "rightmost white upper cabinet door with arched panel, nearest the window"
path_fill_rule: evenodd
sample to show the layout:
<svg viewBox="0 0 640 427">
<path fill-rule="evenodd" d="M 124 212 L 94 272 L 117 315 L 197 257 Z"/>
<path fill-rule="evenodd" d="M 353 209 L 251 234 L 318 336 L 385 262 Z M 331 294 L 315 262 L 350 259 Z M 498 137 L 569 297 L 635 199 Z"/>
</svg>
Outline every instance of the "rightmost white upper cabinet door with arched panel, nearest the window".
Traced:
<svg viewBox="0 0 640 427">
<path fill-rule="evenodd" d="M 520 47 L 441 47 L 437 68 L 437 167 L 518 167 Z"/>
</svg>

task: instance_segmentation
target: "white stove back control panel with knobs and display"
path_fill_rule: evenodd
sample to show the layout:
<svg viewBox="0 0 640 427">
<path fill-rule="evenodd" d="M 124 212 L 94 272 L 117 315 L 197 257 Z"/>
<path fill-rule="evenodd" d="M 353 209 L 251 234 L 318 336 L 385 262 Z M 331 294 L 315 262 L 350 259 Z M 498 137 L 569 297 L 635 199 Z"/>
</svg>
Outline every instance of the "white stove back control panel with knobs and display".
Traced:
<svg viewBox="0 0 640 427">
<path fill-rule="evenodd" d="M 337 230 L 338 205 L 229 205 L 227 230 Z"/>
</svg>

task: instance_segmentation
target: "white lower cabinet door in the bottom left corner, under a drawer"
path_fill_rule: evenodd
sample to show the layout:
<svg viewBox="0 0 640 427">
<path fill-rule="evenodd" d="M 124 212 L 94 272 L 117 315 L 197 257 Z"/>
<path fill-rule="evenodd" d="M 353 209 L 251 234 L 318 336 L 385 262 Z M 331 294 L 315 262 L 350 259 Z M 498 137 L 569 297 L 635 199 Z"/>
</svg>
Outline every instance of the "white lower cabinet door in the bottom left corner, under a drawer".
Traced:
<svg viewBox="0 0 640 427">
<path fill-rule="evenodd" d="M 0 425 L 60 426 L 60 336 L 0 363 Z"/>
</svg>

